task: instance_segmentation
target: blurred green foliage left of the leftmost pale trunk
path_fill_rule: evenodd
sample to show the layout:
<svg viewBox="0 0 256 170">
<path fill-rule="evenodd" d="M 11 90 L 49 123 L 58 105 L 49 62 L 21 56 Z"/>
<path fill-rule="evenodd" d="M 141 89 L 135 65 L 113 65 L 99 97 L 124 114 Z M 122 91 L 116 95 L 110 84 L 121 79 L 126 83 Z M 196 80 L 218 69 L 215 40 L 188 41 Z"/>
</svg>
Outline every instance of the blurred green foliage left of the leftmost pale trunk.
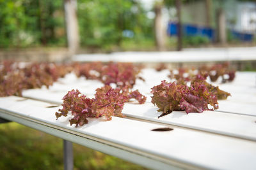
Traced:
<svg viewBox="0 0 256 170">
<path fill-rule="evenodd" d="M 62 6 L 60 0 L 0 0 L 0 47 L 65 45 Z"/>
</svg>

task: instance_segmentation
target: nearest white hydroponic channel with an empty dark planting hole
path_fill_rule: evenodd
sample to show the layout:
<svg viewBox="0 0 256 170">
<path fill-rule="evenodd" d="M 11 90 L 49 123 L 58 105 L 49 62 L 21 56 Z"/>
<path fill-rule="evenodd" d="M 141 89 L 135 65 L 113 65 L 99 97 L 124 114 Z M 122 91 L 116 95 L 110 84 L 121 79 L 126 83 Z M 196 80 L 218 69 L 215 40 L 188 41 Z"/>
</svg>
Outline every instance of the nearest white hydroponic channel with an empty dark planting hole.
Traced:
<svg viewBox="0 0 256 170">
<path fill-rule="evenodd" d="M 167 160 L 166 164 L 176 162 L 175 165 L 184 168 L 255 169 L 256 167 L 254 141 L 180 127 L 172 127 L 173 131 L 155 132 L 151 130 L 163 125 L 118 117 L 113 117 L 111 121 L 106 121 L 104 118 L 90 118 L 89 124 L 75 128 L 68 123 L 70 115 L 56 120 L 54 113 L 58 111 L 58 107 L 49 108 L 49 106 L 52 104 L 22 97 L 2 97 L 0 117 L 12 113 L 20 118 L 47 123 L 50 127 L 51 125 L 55 128 L 60 127 L 70 137 L 72 132 L 79 132 L 88 138 L 91 136 L 102 140 L 102 143 L 110 142 L 112 146 L 131 148 L 134 153 L 143 157 L 154 157 L 154 159 L 160 157 Z M 84 137 L 74 135 L 74 138 Z M 129 157 L 129 154 L 126 156 Z"/>
</svg>

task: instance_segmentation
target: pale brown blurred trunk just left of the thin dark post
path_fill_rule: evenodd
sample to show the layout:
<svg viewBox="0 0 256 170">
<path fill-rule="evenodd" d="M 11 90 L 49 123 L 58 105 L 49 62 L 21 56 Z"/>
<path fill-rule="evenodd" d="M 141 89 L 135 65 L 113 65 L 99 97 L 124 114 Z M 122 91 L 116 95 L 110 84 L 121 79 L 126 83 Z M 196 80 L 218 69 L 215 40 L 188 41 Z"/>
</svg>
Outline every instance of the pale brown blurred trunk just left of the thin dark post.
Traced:
<svg viewBox="0 0 256 170">
<path fill-rule="evenodd" d="M 162 23 L 162 7 L 163 5 L 161 3 L 157 3 L 154 6 L 155 11 L 155 20 L 154 20 L 154 35 L 155 35 L 155 42 L 156 42 L 156 48 L 159 51 L 164 50 L 164 34 L 163 34 L 163 23 Z"/>
</svg>

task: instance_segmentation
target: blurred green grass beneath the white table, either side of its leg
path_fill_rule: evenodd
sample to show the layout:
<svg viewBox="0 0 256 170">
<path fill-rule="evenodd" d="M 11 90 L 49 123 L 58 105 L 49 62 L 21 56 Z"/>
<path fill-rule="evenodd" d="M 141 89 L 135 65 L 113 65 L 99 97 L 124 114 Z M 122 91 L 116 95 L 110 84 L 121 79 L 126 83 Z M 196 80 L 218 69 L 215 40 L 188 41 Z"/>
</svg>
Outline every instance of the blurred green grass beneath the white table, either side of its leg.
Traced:
<svg viewBox="0 0 256 170">
<path fill-rule="evenodd" d="M 63 169 L 62 139 L 15 122 L 0 124 L 0 169 Z M 145 169 L 74 144 L 76 169 Z"/>
</svg>

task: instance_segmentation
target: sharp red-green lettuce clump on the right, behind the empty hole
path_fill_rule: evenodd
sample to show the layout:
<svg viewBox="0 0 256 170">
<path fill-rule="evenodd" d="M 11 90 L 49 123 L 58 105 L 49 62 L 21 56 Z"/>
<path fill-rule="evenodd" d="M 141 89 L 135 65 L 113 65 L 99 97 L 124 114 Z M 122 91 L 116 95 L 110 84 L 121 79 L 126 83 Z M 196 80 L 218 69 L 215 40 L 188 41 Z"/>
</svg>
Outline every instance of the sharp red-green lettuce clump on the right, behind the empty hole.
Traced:
<svg viewBox="0 0 256 170">
<path fill-rule="evenodd" d="M 159 117 L 168 115 L 172 111 L 185 110 L 186 113 L 210 110 L 208 104 L 213 109 L 218 108 L 217 97 L 209 92 L 204 84 L 195 83 L 193 87 L 173 83 L 165 80 L 160 85 L 152 88 L 152 103 L 155 104 L 163 113 Z"/>
</svg>

